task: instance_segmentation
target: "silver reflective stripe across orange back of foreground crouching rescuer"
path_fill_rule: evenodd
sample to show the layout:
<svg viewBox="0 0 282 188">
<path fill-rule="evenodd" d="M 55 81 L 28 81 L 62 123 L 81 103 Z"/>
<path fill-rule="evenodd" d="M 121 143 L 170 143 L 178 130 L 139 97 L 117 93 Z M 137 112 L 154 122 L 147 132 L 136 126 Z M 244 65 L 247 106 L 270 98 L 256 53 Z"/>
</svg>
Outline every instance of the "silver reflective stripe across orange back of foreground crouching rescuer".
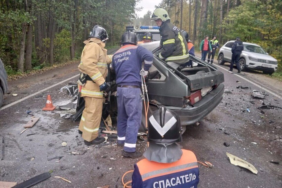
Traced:
<svg viewBox="0 0 282 188">
<path fill-rule="evenodd" d="M 182 165 L 175 166 L 175 167 L 155 170 L 155 171 L 152 171 L 152 172 L 148 172 L 146 174 L 142 174 L 141 177 L 142 177 L 142 180 L 145 181 L 146 179 L 149 179 L 149 177 L 151 177 L 151 176 L 169 173 L 169 172 L 174 173 L 173 171 L 180 172 L 180 171 L 184 171 L 186 168 L 190 168 L 190 167 L 194 167 L 194 166 L 198 166 L 198 162 L 192 162 L 192 163 L 182 164 Z"/>
</svg>

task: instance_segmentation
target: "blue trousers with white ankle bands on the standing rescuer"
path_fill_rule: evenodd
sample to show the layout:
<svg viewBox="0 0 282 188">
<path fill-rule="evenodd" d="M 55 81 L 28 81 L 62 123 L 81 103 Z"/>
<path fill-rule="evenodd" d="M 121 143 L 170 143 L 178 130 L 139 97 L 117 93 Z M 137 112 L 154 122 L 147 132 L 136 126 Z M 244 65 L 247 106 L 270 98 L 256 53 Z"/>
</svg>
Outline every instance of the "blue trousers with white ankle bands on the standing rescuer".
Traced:
<svg viewBox="0 0 282 188">
<path fill-rule="evenodd" d="M 117 87 L 117 143 L 123 150 L 136 151 L 137 133 L 142 118 L 140 88 Z"/>
</svg>

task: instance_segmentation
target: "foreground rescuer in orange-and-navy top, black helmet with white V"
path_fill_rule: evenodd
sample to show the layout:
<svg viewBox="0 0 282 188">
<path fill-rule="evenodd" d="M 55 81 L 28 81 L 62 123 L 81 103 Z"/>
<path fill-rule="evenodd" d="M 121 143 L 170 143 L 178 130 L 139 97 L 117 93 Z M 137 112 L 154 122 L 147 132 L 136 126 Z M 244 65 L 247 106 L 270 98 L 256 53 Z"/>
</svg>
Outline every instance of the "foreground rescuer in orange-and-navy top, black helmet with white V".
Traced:
<svg viewBox="0 0 282 188">
<path fill-rule="evenodd" d="M 148 122 L 150 145 L 143 154 L 146 159 L 134 165 L 132 188 L 197 188 L 199 167 L 192 151 L 181 150 L 179 117 L 166 108 L 152 113 Z"/>
</svg>

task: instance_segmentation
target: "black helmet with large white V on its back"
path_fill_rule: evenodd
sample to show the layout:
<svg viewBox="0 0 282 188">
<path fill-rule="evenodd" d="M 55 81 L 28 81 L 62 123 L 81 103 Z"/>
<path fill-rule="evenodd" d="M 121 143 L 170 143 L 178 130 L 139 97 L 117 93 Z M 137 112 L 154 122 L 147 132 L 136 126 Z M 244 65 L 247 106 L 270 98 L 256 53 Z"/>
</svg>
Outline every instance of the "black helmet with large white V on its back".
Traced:
<svg viewBox="0 0 282 188">
<path fill-rule="evenodd" d="M 147 138 L 148 142 L 181 142 L 181 126 L 177 114 L 164 107 L 154 111 L 149 118 Z"/>
</svg>

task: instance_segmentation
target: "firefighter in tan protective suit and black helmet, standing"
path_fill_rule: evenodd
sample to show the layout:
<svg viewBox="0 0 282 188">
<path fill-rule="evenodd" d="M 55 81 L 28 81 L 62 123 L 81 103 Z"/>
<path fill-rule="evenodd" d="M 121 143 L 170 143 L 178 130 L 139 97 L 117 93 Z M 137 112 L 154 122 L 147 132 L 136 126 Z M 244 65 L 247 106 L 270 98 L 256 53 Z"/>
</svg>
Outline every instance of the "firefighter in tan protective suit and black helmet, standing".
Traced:
<svg viewBox="0 0 282 188">
<path fill-rule="evenodd" d="M 112 57 L 107 56 L 107 50 L 104 49 L 107 39 L 106 30 L 102 26 L 94 26 L 88 40 L 83 42 L 85 47 L 78 66 L 81 72 L 78 85 L 82 85 L 80 96 L 85 100 L 78 132 L 82 134 L 85 145 L 105 141 L 104 137 L 98 137 L 98 131 L 102 116 L 103 91 L 108 88 L 105 82 L 107 64 L 112 61 Z"/>
</svg>

